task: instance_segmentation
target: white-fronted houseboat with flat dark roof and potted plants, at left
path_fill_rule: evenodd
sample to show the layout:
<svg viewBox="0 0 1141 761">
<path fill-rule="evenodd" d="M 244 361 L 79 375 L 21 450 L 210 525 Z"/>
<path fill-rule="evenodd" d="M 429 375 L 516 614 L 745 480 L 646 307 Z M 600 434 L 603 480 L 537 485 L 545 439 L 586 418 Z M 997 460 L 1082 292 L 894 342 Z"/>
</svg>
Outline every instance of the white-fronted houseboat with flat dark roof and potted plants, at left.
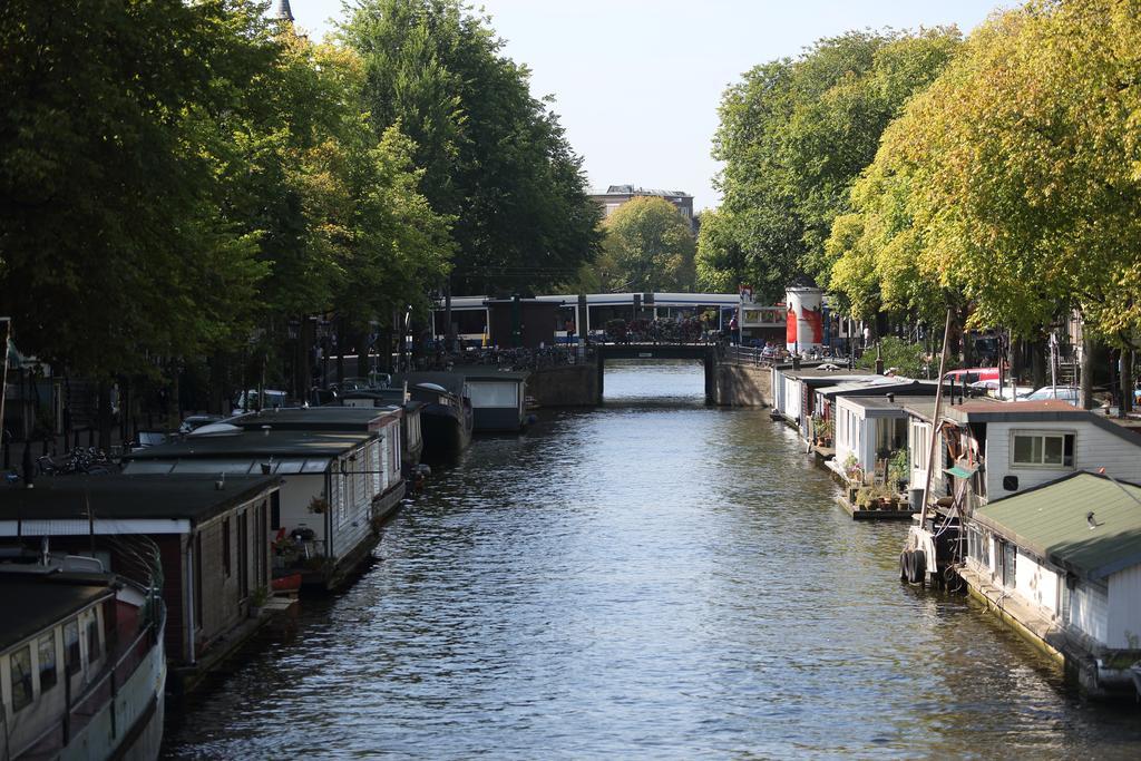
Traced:
<svg viewBox="0 0 1141 761">
<path fill-rule="evenodd" d="M 340 586 L 369 560 L 381 520 L 404 495 L 399 436 L 371 430 L 216 423 L 183 442 L 132 452 L 124 472 L 211 475 L 222 484 L 234 476 L 283 476 L 266 529 L 274 573 L 299 575 L 304 590 L 318 592 Z"/>
</svg>

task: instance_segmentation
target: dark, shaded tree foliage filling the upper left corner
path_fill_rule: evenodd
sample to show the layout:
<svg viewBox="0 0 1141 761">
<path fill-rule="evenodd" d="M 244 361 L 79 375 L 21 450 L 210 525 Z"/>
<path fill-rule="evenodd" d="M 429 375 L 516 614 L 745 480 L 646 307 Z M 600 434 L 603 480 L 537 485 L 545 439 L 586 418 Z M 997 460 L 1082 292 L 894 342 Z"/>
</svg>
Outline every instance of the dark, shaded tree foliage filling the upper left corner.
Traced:
<svg viewBox="0 0 1141 761">
<path fill-rule="evenodd" d="M 202 348 L 265 267 L 186 114 L 261 44 L 219 0 L 0 5 L 0 292 L 21 340 L 99 377 Z M 256 57 L 256 56 L 254 56 Z"/>
</svg>

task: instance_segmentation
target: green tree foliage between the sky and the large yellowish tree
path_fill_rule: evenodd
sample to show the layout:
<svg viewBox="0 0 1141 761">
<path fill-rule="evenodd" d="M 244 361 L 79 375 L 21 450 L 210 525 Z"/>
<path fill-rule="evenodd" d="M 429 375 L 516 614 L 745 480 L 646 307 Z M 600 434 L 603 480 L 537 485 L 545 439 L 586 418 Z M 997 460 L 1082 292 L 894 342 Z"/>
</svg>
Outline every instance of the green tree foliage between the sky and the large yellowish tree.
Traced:
<svg viewBox="0 0 1141 761">
<path fill-rule="evenodd" d="M 958 44 L 954 29 L 849 32 L 730 87 L 713 146 L 725 162 L 721 219 L 699 248 L 703 276 L 752 282 L 766 298 L 799 274 L 827 286 L 826 241 L 850 209 L 853 180 L 883 129 Z"/>
</svg>

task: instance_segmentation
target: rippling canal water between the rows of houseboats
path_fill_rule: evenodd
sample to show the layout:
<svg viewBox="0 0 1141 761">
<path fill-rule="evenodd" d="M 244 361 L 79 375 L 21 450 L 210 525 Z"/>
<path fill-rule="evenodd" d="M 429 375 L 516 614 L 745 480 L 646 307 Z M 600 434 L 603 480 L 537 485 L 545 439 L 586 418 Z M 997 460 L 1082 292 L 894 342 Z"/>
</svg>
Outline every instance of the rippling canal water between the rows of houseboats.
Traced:
<svg viewBox="0 0 1141 761">
<path fill-rule="evenodd" d="M 608 369 L 605 407 L 479 439 L 171 712 L 168 758 L 1135 758 L 963 597 L 900 585 L 792 431 L 703 406 L 702 369 Z"/>
</svg>

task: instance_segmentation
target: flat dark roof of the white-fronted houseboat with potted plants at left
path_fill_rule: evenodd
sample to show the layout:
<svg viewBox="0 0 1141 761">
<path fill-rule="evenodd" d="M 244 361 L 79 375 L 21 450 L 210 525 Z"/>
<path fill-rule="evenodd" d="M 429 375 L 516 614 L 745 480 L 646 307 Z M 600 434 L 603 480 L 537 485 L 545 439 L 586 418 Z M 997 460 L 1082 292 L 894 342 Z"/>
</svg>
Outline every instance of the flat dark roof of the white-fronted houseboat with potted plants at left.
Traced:
<svg viewBox="0 0 1141 761">
<path fill-rule="evenodd" d="M 375 414 L 375 411 L 371 411 Z M 229 423 L 229 421 L 227 421 Z M 359 431 L 314 431 L 274 429 L 268 431 L 242 429 L 220 436 L 187 436 L 181 442 L 148 446 L 127 455 L 127 460 L 184 460 L 203 458 L 258 458 L 274 455 L 333 458 L 367 442 L 374 436 Z"/>
</svg>

